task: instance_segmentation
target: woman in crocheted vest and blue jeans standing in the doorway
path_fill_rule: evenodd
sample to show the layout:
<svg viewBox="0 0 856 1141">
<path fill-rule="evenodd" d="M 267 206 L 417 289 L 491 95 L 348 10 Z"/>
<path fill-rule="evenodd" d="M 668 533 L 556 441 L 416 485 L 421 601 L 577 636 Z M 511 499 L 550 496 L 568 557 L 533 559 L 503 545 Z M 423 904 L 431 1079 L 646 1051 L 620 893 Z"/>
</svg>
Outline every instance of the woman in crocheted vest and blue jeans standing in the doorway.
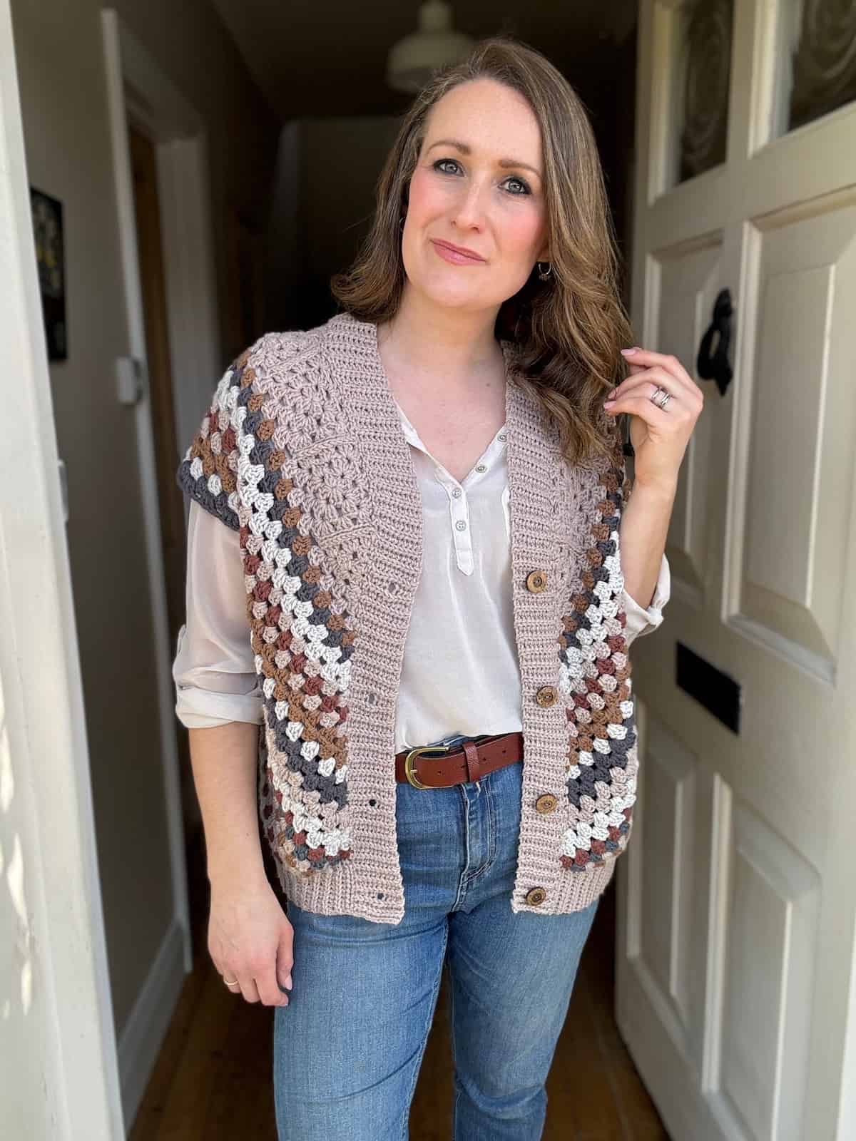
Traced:
<svg viewBox="0 0 856 1141">
<path fill-rule="evenodd" d="M 209 948 L 277 1008 L 281 1139 L 406 1135 L 447 960 L 454 1136 L 531 1141 L 702 396 L 629 346 L 588 119 L 507 39 L 417 97 L 333 291 L 233 364 L 179 476 Z"/>
</svg>

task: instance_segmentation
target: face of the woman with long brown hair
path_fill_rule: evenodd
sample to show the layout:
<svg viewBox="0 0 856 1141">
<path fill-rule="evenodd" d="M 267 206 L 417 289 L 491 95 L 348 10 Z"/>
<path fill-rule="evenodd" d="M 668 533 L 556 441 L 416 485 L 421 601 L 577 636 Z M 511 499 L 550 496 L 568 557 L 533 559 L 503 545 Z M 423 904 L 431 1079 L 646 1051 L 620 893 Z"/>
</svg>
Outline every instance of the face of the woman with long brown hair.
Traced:
<svg viewBox="0 0 856 1141">
<path fill-rule="evenodd" d="M 498 309 L 548 259 L 542 179 L 541 131 L 523 96 L 488 79 L 444 95 L 410 181 L 410 288 L 437 305 Z M 457 257 L 444 242 L 477 257 Z"/>
</svg>

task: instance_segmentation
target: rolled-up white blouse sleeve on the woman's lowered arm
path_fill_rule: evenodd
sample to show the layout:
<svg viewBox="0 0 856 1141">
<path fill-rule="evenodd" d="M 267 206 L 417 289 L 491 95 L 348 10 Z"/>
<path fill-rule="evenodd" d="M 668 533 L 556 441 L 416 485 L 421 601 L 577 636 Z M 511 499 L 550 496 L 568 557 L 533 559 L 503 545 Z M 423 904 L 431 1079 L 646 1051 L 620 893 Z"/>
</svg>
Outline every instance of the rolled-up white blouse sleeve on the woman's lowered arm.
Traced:
<svg viewBox="0 0 856 1141">
<path fill-rule="evenodd" d="M 261 688 L 236 531 L 191 502 L 187 612 L 172 663 L 176 714 L 188 729 L 261 723 Z"/>
</svg>

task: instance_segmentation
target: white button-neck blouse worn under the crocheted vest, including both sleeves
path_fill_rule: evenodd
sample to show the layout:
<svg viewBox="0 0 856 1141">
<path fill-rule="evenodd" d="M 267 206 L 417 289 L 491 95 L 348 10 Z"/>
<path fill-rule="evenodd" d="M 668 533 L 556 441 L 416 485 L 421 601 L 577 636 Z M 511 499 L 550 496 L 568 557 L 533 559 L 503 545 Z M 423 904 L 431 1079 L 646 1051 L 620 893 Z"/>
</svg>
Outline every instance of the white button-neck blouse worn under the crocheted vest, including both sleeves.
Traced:
<svg viewBox="0 0 856 1141">
<path fill-rule="evenodd" d="M 458 734 L 517 731 L 522 694 L 506 432 L 496 432 L 459 483 L 434 459 L 399 405 L 398 412 L 422 497 L 425 557 L 404 648 L 395 750 Z M 647 609 L 624 593 L 628 644 L 660 625 L 669 593 L 663 556 Z M 188 728 L 261 723 L 239 535 L 195 501 L 187 534 L 186 624 L 178 634 L 172 677 L 176 713 Z"/>
</svg>

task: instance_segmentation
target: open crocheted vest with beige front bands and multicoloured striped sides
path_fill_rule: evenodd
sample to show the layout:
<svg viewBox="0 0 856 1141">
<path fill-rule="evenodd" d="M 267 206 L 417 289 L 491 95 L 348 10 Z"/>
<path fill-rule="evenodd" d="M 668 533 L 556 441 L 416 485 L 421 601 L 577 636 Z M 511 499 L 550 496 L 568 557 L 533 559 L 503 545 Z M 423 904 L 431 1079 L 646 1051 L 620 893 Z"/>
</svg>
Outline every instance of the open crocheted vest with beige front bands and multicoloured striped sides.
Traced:
<svg viewBox="0 0 856 1141">
<path fill-rule="evenodd" d="M 501 343 L 524 733 L 511 907 L 556 914 L 606 888 L 632 826 L 628 486 L 617 444 L 608 462 L 564 460 Z M 259 811 L 283 892 L 308 911 L 397 923 L 396 696 L 430 551 L 375 325 L 339 314 L 260 338 L 220 380 L 178 480 L 240 534 L 264 694 Z M 527 588 L 533 569 L 546 590 Z M 558 800 L 549 814 L 534 807 L 546 792 Z"/>
</svg>

